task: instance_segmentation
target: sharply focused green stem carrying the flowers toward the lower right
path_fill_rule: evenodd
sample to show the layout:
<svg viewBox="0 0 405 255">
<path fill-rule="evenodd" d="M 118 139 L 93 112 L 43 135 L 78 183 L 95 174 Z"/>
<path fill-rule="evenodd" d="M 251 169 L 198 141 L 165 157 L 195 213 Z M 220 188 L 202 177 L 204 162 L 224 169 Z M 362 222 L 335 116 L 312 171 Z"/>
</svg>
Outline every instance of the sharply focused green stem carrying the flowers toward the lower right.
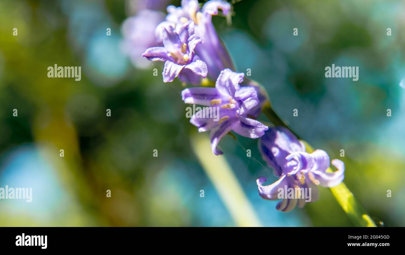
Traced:
<svg viewBox="0 0 405 255">
<path fill-rule="evenodd" d="M 266 103 L 263 105 L 262 111 L 267 116 L 267 118 L 269 118 L 269 120 L 273 122 L 273 124 L 275 124 L 275 126 L 284 126 L 292 133 L 294 133 L 294 131 L 292 131 L 290 127 L 286 123 L 284 123 L 283 120 L 281 120 L 281 118 L 276 114 L 269 101 L 266 101 Z M 298 135 L 296 136 L 298 137 Z M 311 145 L 309 145 L 305 141 L 303 142 L 306 145 L 307 152 L 313 152 L 313 148 L 311 147 Z M 327 171 L 331 172 L 333 170 L 331 168 L 328 168 Z M 350 192 L 350 190 L 343 182 L 333 188 L 328 189 L 330 190 L 330 192 L 332 192 L 337 202 L 343 208 L 343 211 L 345 211 L 345 213 L 353 221 L 354 225 L 356 225 L 357 227 L 376 227 L 371 217 L 367 215 L 363 207 L 359 204 L 356 198 L 354 198 L 353 193 Z"/>
</svg>

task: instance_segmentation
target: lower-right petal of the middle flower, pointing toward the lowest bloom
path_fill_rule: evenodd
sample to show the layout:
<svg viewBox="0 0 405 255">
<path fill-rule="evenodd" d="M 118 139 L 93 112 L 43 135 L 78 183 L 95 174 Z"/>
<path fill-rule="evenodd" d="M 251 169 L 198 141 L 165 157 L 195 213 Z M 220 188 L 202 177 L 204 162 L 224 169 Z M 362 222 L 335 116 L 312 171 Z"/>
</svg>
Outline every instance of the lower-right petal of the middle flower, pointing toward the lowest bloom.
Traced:
<svg viewBox="0 0 405 255">
<path fill-rule="evenodd" d="M 232 130 L 241 136 L 249 138 L 259 138 L 264 135 L 264 131 L 269 129 L 268 126 L 265 126 L 260 121 L 245 118 L 242 116 L 238 116 L 238 118 L 239 121 L 235 122 L 232 125 Z"/>
</svg>

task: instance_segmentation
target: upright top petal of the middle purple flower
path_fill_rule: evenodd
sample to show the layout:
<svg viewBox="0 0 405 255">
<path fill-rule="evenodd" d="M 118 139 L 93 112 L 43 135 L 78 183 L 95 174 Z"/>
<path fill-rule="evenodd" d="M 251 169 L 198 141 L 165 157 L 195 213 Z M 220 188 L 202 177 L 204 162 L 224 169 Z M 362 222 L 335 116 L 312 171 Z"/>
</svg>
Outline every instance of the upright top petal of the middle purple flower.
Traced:
<svg viewBox="0 0 405 255">
<path fill-rule="evenodd" d="M 223 95 L 235 97 L 235 92 L 239 89 L 239 83 L 243 81 L 243 73 L 236 73 L 230 69 L 224 69 L 215 82 L 215 88 Z"/>
</svg>

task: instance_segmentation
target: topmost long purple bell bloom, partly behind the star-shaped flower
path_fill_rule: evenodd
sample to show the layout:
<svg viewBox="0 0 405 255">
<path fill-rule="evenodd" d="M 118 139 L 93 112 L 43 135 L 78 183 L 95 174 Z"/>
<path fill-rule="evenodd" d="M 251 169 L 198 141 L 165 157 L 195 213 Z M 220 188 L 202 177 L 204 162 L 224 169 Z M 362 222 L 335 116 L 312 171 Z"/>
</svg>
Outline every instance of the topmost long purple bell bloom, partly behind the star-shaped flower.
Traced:
<svg viewBox="0 0 405 255">
<path fill-rule="evenodd" d="M 198 0 L 182 0 L 181 7 L 167 7 L 166 21 L 156 28 L 157 32 L 162 31 L 162 27 L 175 27 L 175 30 L 179 31 L 184 23 L 194 21 L 195 33 L 204 41 L 204 44 L 196 48 L 196 53 L 207 64 L 208 74 L 213 79 L 225 68 L 234 70 L 232 59 L 211 20 L 213 15 L 218 15 L 219 9 L 226 15 L 230 11 L 230 4 L 222 0 L 211 0 L 200 10 Z"/>
</svg>

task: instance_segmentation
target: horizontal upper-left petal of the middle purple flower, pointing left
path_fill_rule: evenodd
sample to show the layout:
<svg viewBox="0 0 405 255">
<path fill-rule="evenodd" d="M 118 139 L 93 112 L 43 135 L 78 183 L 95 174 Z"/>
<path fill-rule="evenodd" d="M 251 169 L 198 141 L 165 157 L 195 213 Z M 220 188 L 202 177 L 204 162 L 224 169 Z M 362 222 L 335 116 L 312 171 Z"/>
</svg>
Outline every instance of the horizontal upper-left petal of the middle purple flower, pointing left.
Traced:
<svg viewBox="0 0 405 255">
<path fill-rule="evenodd" d="M 184 103 L 211 106 L 211 100 L 221 95 L 215 88 L 193 87 L 181 91 L 181 97 Z"/>
</svg>

